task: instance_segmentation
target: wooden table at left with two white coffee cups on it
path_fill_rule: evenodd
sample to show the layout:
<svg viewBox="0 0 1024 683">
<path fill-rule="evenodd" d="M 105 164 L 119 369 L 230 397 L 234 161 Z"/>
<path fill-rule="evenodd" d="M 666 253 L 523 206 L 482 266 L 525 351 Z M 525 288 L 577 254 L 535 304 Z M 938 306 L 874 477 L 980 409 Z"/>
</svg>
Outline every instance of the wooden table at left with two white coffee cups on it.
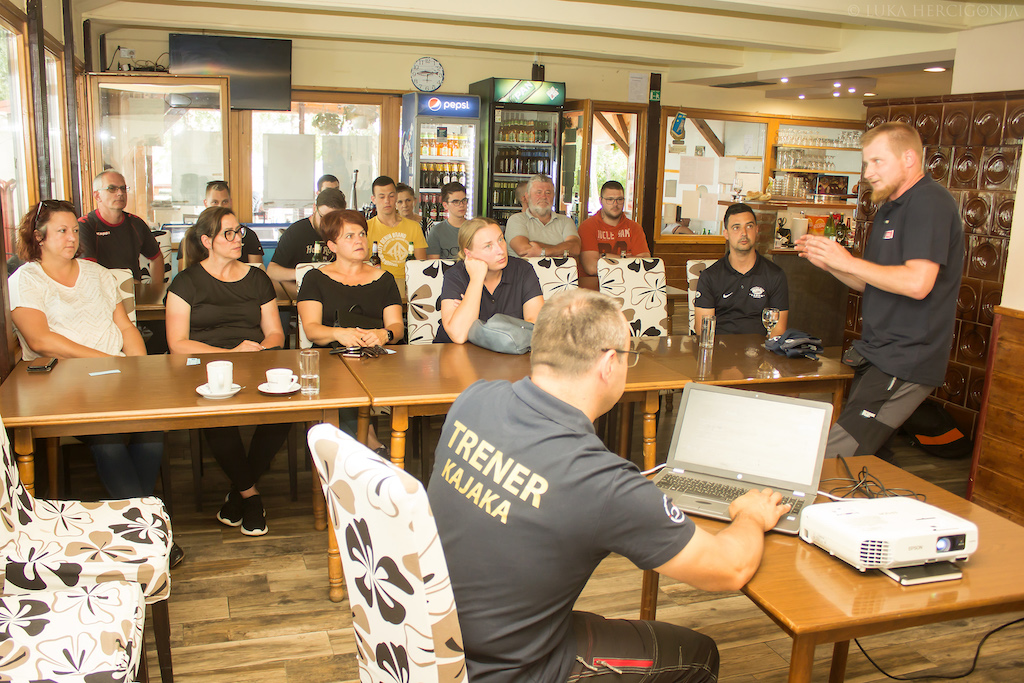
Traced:
<svg viewBox="0 0 1024 683">
<path fill-rule="evenodd" d="M 33 439 L 47 438 L 50 490 L 56 489 L 56 449 L 60 436 L 119 432 L 196 429 L 226 425 L 286 422 L 328 422 L 338 425 L 338 409 L 370 404 L 366 392 L 344 369 L 321 352 L 321 391 L 316 396 L 294 393 L 268 396 L 256 387 L 270 368 L 298 373 L 297 350 L 259 353 L 207 353 L 202 362 L 187 366 L 185 355 L 143 355 L 127 358 L 70 358 L 49 373 L 29 373 L 19 362 L 0 385 L 0 416 L 14 432 L 22 483 L 35 492 Z M 206 383 L 210 360 L 234 364 L 233 379 L 244 388 L 230 398 L 213 400 L 196 393 Z M 332 370 L 337 372 L 332 372 Z M 119 373 L 90 376 L 118 370 Z M 324 494 L 313 477 L 313 518 L 318 530 L 327 527 Z M 343 591 L 341 558 L 334 533 L 328 535 L 332 594 Z"/>
</svg>

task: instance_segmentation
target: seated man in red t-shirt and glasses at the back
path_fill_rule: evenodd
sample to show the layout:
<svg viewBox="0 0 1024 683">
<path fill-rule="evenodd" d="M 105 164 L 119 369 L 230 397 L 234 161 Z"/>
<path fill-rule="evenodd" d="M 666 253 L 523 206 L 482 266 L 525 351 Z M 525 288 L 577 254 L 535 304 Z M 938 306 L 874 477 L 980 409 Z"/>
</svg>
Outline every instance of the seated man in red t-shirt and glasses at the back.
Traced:
<svg viewBox="0 0 1024 683">
<path fill-rule="evenodd" d="M 643 227 L 626 217 L 626 193 L 623 183 L 608 180 L 601 185 L 601 210 L 580 225 L 582 253 L 580 261 L 589 275 L 597 274 L 601 254 L 650 256 Z"/>
</svg>

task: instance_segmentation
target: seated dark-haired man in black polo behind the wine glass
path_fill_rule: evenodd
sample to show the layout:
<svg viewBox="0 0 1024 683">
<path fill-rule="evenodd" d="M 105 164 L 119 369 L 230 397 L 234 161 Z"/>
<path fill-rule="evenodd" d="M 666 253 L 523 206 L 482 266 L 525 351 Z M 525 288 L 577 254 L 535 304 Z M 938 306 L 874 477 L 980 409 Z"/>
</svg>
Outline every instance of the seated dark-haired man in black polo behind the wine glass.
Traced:
<svg viewBox="0 0 1024 683">
<path fill-rule="evenodd" d="M 693 300 L 693 330 L 714 315 L 718 334 L 764 334 L 761 312 L 778 308 L 773 335 L 785 332 L 790 318 L 790 287 L 782 269 L 758 254 L 758 219 L 745 204 L 725 210 L 728 253 L 705 268 Z"/>
</svg>

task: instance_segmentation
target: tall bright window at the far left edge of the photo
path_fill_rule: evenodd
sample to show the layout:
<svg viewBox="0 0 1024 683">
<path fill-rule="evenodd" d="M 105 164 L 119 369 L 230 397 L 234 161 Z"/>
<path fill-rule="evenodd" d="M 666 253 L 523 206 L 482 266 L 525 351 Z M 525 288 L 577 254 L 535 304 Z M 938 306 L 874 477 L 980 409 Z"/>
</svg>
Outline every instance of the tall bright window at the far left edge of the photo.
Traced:
<svg viewBox="0 0 1024 683">
<path fill-rule="evenodd" d="M 17 223 L 29 210 L 24 119 L 27 106 L 18 59 L 18 35 L 0 25 L 0 203 L 7 246 L 5 258 L 14 253 Z"/>
</svg>

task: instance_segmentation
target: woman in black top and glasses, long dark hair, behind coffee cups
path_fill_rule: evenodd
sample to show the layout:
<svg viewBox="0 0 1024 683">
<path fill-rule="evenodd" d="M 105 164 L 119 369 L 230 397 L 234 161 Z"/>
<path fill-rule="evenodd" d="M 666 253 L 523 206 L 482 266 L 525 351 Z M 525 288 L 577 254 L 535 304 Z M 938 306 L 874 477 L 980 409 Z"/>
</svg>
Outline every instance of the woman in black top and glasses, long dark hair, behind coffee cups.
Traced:
<svg viewBox="0 0 1024 683">
<path fill-rule="evenodd" d="M 273 284 L 263 270 L 238 260 L 245 230 L 230 209 L 211 207 L 185 233 L 189 265 L 167 294 L 167 345 L 171 353 L 260 351 L 282 346 Z M 204 429 L 214 458 L 231 480 L 217 513 L 247 536 L 266 533 L 256 482 L 288 438 L 291 425 L 259 425 L 249 454 L 238 427 Z"/>
</svg>

